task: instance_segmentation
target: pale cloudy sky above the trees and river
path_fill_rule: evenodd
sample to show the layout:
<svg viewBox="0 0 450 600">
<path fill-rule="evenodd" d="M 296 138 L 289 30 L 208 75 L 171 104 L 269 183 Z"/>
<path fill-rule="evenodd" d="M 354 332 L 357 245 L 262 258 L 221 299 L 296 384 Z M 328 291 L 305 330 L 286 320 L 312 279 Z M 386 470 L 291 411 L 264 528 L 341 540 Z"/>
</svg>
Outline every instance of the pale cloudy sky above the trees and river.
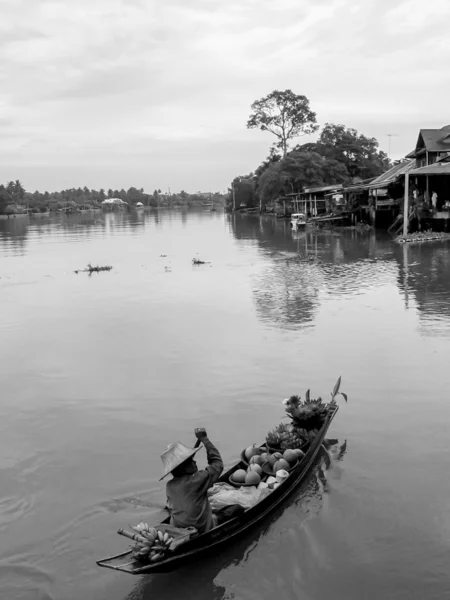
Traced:
<svg viewBox="0 0 450 600">
<path fill-rule="evenodd" d="M 0 0 L 0 182 L 224 191 L 269 153 L 246 123 L 274 89 L 402 158 L 450 123 L 449 19 L 449 0 Z"/>
</svg>

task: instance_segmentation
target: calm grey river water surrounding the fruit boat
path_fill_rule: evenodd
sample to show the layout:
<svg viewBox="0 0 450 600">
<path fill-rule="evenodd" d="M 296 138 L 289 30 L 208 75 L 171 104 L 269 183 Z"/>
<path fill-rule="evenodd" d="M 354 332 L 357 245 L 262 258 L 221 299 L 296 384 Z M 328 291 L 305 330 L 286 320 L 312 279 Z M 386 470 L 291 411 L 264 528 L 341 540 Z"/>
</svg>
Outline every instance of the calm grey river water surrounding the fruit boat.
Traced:
<svg viewBox="0 0 450 600">
<path fill-rule="evenodd" d="M 0 221 L 0 259 L 2 600 L 449 597 L 449 245 L 99 213 Z M 96 566 L 163 514 L 168 443 L 203 425 L 229 464 L 339 375 L 331 462 L 276 519 L 175 575 Z"/>
</svg>

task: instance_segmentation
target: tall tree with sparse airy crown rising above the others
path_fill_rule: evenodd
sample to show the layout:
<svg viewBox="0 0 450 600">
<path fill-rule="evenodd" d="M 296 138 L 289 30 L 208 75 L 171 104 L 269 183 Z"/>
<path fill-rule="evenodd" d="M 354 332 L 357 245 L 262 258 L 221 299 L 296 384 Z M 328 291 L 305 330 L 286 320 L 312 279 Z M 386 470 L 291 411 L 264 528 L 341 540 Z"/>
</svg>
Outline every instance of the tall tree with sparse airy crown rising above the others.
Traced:
<svg viewBox="0 0 450 600">
<path fill-rule="evenodd" d="M 289 140 L 318 129 L 316 113 L 309 108 L 308 98 L 291 90 L 274 90 L 268 96 L 255 100 L 251 108 L 253 112 L 247 128 L 273 133 L 278 138 L 275 147 L 282 151 L 283 156 L 287 154 Z"/>
</svg>

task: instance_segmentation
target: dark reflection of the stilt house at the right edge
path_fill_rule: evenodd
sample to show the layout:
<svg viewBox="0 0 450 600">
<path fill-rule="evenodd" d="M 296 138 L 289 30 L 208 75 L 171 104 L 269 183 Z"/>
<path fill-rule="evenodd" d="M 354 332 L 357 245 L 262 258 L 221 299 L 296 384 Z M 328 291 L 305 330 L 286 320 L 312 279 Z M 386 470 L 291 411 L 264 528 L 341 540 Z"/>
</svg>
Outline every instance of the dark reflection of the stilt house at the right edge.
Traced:
<svg viewBox="0 0 450 600">
<path fill-rule="evenodd" d="M 422 322 L 431 320 L 441 333 L 450 330 L 450 247 L 445 242 L 402 244 L 395 248 L 398 285 L 405 305 L 417 306 Z M 436 331 L 433 331 L 435 334 Z"/>
</svg>

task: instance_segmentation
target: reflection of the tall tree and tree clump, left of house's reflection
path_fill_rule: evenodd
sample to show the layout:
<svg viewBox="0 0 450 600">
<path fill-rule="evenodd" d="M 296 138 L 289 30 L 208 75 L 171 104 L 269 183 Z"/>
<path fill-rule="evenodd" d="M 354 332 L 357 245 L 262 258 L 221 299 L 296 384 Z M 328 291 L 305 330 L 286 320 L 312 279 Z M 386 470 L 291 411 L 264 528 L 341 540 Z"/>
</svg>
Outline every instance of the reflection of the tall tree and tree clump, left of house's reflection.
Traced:
<svg viewBox="0 0 450 600">
<path fill-rule="evenodd" d="M 270 260 L 255 276 L 259 316 L 283 328 L 313 322 L 321 292 L 361 293 L 393 280 L 392 240 L 356 231 L 292 232 L 287 220 L 273 217 L 228 217 L 238 240 L 256 240 Z"/>
</svg>

